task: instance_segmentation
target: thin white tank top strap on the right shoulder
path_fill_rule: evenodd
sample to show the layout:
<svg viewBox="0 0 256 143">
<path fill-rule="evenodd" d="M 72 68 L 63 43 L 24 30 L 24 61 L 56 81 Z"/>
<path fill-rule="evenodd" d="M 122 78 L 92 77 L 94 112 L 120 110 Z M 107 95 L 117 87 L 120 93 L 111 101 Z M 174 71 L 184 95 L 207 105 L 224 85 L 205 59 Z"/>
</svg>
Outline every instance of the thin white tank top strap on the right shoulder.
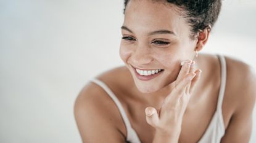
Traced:
<svg viewBox="0 0 256 143">
<path fill-rule="evenodd" d="M 218 58 L 221 64 L 221 83 L 220 83 L 220 91 L 218 96 L 217 110 L 221 111 L 222 102 L 225 94 L 225 88 L 226 88 L 226 60 L 225 60 L 225 56 L 221 54 L 218 54 Z"/>
</svg>

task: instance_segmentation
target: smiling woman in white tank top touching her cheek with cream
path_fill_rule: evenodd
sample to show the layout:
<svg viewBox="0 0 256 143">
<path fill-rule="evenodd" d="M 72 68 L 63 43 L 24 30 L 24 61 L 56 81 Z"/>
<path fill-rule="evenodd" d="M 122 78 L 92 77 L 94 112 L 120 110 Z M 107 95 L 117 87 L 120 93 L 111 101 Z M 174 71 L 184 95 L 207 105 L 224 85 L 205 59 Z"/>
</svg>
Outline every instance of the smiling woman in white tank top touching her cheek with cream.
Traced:
<svg viewBox="0 0 256 143">
<path fill-rule="evenodd" d="M 256 76 L 228 56 L 200 54 L 221 1 L 125 1 L 125 66 L 76 98 L 83 142 L 249 142 Z"/>
</svg>

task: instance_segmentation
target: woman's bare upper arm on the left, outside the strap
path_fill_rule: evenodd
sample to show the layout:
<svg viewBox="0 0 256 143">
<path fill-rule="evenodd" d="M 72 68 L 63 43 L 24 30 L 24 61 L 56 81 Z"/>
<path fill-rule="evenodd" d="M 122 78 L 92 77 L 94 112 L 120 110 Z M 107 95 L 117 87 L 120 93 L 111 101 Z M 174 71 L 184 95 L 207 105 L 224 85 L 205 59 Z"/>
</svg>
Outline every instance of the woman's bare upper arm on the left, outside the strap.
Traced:
<svg viewBox="0 0 256 143">
<path fill-rule="evenodd" d="M 99 90 L 95 89 L 95 85 L 94 89 L 89 85 L 85 87 L 76 98 L 75 120 L 84 143 L 125 142 L 125 137 L 115 124 L 116 119 L 112 112 L 109 112 L 112 110 L 109 105 L 111 102 L 107 100 Z"/>
</svg>

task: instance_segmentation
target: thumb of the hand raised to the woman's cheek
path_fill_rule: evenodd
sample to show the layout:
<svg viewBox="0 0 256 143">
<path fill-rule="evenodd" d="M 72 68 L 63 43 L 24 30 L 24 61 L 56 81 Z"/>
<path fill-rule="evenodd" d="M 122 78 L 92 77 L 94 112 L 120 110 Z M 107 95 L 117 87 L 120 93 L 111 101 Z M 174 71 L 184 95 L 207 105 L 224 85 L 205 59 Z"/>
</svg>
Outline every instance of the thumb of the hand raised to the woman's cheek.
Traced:
<svg viewBox="0 0 256 143">
<path fill-rule="evenodd" d="M 154 107 L 147 107 L 145 109 L 147 123 L 153 127 L 156 127 L 159 122 L 159 116 Z"/>
</svg>

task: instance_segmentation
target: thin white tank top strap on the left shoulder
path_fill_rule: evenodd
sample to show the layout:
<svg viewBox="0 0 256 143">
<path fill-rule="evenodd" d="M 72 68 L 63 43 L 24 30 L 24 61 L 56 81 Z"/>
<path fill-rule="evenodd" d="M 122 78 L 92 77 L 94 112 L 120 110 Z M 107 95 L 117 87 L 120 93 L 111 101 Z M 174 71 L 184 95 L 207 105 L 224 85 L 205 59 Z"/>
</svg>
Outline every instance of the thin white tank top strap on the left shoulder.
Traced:
<svg viewBox="0 0 256 143">
<path fill-rule="evenodd" d="M 112 98 L 112 100 L 115 102 L 122 118 L 123 118 L 123 122 L 125 123 L 125 127 L 126 127 L 126 139 L 129 140 L 138 140 L 138 136 L 136 134 L 136 132 L 134 131 L 134 129 L 131 127 L 131 123 L 129 121 L 129 118 L 127 117 L 125 110 L 123 109 L 123 106 L 121 104 L 121 102 L 118 100 L 117 96 L 115 96 L 115 94 L 112 92 L 112 90 L 110 90 L 109 87 L 107 87 L 107 85 L 102 82 L 99 79 L 93 78 L 90 79 L 91 82 L 96 83 L 97 85 L 99 85 L 101 88 L 104 89 L 105 92 L 107 92 L 107 95 L 110 96 L 110 98 Z"/>
</svg>

